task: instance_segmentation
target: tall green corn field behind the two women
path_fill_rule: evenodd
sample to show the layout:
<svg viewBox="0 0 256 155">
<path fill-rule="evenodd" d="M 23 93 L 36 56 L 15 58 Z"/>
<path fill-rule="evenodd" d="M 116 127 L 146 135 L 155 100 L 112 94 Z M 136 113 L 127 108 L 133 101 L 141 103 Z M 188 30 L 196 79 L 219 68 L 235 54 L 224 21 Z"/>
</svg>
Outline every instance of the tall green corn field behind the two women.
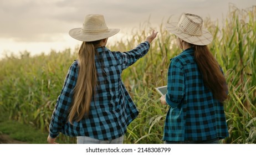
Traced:
<svg viewBox="0 0 256 155">
<path fill-rule="evenodd" d="M 222 66 L 229 87 L 224 102 L 229 137 L 221 143 L 256 143 L 256 6 L 239 10 L 231 5 L 222 22 L 210 18 L 204 21 L 214 37 L 209 48 Z M 124 143 L 163 143 L 168 107 L 160 104 L 161 96 L 155 87 L 167 84 L 170 59 L 181 53 L 175 36 L 165 30 L 165 23 L 158 28 L 150 27 L 150 22 L 142 23 L 132 30 L 131 38 L 107 46 L 114 51 L 127 51 L 144 42 L 152 29 L 159 32 L 149 53 L 122 73 L 122 80 L 140 111 L 127 128 Z M 48 132 L 55 102 L 76 52 L 53 50 L 48 55 L 30 56 L 24 51 L 19 56 L 1 59 L 0 112 L 7 113 L 11 120 Z M 59 138 L 75 143 L 68 136 Z"/>
</svg>

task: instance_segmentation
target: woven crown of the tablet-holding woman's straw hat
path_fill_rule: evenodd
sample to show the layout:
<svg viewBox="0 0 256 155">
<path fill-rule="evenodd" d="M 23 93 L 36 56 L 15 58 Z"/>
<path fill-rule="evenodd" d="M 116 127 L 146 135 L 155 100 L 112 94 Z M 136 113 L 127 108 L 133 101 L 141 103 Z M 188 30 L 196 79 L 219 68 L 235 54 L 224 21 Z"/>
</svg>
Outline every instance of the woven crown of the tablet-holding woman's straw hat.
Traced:
<svg viewBox="0 0 256 155">
<path fill-rule="evenodd" d="M 177 25 L 178 29 L 185 34 L 201 36 L 203 34 L 203 19 L 196 14 L 183 14 Z"/>
</svg>

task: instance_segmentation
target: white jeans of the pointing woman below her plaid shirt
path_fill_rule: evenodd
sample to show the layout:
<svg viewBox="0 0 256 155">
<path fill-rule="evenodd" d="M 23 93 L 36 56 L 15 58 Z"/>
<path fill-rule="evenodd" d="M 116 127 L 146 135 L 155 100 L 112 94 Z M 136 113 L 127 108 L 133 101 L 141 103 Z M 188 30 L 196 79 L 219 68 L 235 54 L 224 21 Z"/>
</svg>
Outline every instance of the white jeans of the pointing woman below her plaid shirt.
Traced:
<svg viewBox="0 0 256 155">
<path fill-rule="evenodd" d="M 109 141 L 101 141 L 86 136 L 78 136 L 76 139 L 78 144 L 122 144 L 124 142 L 124 136 Z"/>
</svg>

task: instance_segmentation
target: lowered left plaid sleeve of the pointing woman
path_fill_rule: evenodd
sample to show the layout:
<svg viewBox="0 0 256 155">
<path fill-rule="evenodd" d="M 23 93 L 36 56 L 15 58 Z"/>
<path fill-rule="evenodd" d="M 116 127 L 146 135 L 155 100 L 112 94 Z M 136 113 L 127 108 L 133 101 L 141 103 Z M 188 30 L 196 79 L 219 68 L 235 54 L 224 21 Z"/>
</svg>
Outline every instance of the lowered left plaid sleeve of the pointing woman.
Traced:
<svg viewBox="0 0 256 155">
<path fill-rule="evenodd" d="M 73 89 L 76 84 L 77 76 L 78 64 L 75 61 L 70 66 L 68 73 L 66 74 L 62 92 L 58 96 L 57 103 L 55 105 L 50 121 L 49 135 L 52 138 L 55 138 L 59 135 L 59 132 L 67 122 L 68 111 L 73 100 Z"/>
</svg>

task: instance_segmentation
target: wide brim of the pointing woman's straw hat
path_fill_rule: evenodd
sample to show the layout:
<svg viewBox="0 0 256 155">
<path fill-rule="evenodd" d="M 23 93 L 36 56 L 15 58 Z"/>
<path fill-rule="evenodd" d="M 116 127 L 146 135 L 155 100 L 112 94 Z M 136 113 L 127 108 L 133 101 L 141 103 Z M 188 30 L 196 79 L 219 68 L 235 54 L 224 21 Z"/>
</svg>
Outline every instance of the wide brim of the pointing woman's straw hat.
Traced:
<svg viewBox="0 0 256 155">
<path fill-rule="evenodd" d="M 96 40 L 101 40 L 105 38 L 109 38 L 117 33 L 119 33 L 120 29 L 108 29 L 107 32 L 97 32 L 97 33 L 85 33 L 81 31 L 81 28 L 74 28 L 69 30 L 69 35 L 83 42 L 93 42 Z"/>
</svg>

